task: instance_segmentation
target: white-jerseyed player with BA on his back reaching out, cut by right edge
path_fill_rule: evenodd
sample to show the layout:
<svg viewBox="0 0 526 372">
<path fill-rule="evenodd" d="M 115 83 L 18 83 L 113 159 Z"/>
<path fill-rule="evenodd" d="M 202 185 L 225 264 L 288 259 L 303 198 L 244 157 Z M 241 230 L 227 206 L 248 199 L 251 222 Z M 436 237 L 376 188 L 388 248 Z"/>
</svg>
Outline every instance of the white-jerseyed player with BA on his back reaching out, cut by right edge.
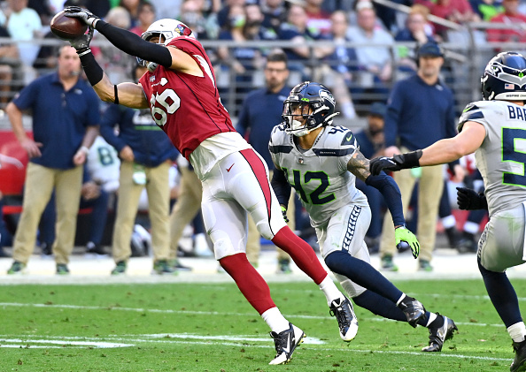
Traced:
<svg viewBox="0 0 526 372">
<path fill-rule="evenodd" d="M 488 208 L 490 221 L 478 242 L 478 268 L 493 306 L 513 339 L 512 372 L 526 370 L 526 327 L 507 268 L 526 262 L 526 58 L 502 52 L 486 65 L 483 101 L 469 103 L 459 122 L 459 134 L 428 148 L 373 159 L 373 174 L 424 165 L 449 163 L 475 152 L 485 195 L 460 189 L 462 209 Z"/>
</svg>

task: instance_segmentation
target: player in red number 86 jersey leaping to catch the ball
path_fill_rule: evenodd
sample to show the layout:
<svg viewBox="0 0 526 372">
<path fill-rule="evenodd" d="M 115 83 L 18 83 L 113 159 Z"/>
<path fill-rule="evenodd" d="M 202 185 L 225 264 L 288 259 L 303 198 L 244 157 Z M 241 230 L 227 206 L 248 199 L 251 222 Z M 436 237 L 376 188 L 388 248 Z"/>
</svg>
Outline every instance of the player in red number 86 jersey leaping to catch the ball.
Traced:
<svg viewBox="0 0 526 372">
<path fill-rule="evenodd" d="M 267 283 L 246 258 L 247 213 L 259 233 L 290 254 L 320 286 L 331 315 L 336 315 L 340 337 L 351 341 L 358 331 L 351 302 L 337 289 L 313 249 L 285 224 L 268 181 L 267 164 L 236 133 L 220 102 L 210 60 L 190 28 L 175 19 L 160 19 L 139 37 L 88 10 L 68 7 L 65 11 L 89 26 L 89 33 L 71 44 L 97 95 L 105 102 L 150 108 L 155 122 L 201 179 L 203 216 L 215 258 L 272 330 L 276 356 L 270 364 L 289 362 L 305 333 L 283 317 Z M 112 84 L 89 49 L 94 29 L 148 66 L 138 84 Z"/>
</svg>

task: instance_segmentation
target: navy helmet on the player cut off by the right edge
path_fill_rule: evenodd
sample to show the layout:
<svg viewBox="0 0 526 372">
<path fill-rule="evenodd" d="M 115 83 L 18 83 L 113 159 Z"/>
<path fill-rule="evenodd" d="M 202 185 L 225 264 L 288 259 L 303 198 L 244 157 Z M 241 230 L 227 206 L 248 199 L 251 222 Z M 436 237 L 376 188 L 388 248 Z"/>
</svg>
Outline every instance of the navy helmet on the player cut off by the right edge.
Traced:
<svg viewBox="0 0 526 372">
<path fill-rule="evenodd" d="M 526 100 L 526 58 L 513 51 L 491 58 L 481 78 L 484 101 Z"/>
</svg>

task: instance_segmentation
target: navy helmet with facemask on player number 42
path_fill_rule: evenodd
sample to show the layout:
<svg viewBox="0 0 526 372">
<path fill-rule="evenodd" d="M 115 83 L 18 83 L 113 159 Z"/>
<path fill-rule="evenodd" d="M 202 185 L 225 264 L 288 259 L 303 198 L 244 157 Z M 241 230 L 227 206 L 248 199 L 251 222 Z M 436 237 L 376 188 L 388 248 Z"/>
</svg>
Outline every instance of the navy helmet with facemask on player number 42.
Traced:
<svg viewBox="0 0 526 372">
<path fill-rule="evenodd" d="M 287 125 L 287 132 L 301 137 L 316 128 L 330 125 L 332 118 L 339 114 L 335 108 L 336 100 L 328 87 L 304 81 L 293 87 L 283 102 L 282 118 Z M 306 124 L 294 120 L 293 114 L 306 118 Z"/>
</svg>

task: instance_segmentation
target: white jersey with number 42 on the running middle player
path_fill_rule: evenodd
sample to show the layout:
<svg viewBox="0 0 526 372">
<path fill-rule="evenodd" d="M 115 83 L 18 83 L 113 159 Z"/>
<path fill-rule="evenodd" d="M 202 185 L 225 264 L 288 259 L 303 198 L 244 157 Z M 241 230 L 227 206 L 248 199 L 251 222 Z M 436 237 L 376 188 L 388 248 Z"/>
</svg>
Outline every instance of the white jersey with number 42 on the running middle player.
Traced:
<svg viewBox="0 0 526 372">
<path fill-rule="evenodd" d="M 356 177 L 347 163 L 359 149 L 352 132 L 344 126 L 326 126 L 312 148 L 301 151 L 285 125 L 276 125 L 268 145 L 275 165 L 285 171 L 311 217 L 313 227 L 329 221 L 344 205 L 367 206 L 367 197 L 354 185 Z"/>
</svg>

